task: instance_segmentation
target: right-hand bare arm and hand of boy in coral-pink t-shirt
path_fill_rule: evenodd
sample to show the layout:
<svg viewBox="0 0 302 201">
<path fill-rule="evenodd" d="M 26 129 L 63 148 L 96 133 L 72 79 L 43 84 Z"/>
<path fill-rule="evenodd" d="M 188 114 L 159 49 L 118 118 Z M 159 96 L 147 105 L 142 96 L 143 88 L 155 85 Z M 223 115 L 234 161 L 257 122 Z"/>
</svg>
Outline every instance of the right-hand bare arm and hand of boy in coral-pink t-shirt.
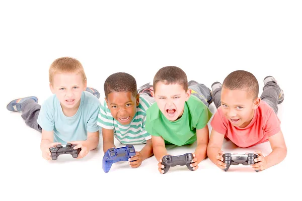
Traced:
<svg viewBox="0 0 302 201">
<path fill-rule="evenodd" d="M 254 170 L 265 170 L 280 163 L 286 157 L 287 148 L 282 131 L 279 131 L 277 134 L 269 137 L 268 140 L 271 145 L 272 152 L 264 157 L 261 151 L 256 151 L 255 153 L 258 154 L 259 157 L 255 158 L 255 162 L 258 163 L 252 165 Z"/>
</svg>

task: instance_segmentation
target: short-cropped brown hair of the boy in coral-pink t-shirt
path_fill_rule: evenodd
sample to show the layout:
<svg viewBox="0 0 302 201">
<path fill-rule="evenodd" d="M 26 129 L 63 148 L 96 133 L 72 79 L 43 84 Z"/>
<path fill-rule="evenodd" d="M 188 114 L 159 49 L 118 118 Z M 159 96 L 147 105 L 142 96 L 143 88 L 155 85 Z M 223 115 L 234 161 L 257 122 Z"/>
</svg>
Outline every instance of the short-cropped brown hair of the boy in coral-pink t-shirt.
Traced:
<svg viewBox="0 0 302 201">
<path fill-rule="evenodd" d="M 255 99 L 258 97 L 259 84 L 256 77 L 244 70 L 236 70 L 225 77 L 222 87 L 230 90 L 246 90 Z"/>
</svg>

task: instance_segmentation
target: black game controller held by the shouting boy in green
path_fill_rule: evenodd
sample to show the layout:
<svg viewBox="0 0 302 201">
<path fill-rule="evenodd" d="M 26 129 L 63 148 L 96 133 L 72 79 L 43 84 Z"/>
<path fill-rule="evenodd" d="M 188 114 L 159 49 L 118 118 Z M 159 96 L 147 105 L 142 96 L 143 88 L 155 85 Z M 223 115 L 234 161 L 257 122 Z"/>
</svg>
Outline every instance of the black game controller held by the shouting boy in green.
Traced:
<svg viewBox="0 0 302 201">
<path fill-rule="evenodd" d="M 193 171 L 193 167 L 190 166 L 193 158 L 193 154 L 191 153 L 186 153 L 184 155 L 179 156 L 166 155 L 162 158 L 162 164 L 165 165 L 165 167 L 161 169 L 165 171 L 165 174 L 169 171 L 171 166 L 174 167 L 176 165 L 186 165 L 189 170 Z"/>
</svg>

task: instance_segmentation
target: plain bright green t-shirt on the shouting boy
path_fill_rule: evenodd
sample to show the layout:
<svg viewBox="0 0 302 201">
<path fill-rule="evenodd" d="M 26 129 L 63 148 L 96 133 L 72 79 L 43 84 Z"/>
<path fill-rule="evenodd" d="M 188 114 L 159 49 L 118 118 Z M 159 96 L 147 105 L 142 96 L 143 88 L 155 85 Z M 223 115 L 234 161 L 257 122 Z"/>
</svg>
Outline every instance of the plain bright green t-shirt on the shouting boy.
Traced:
<svg viewBox="0 0 302 201">
<path fill-rule="evenodd" d="M 184 113 L 172 122 L 160 111 L 157 103 L 147 110 L 145 130 L 152 136 L 161 136 L 166 144 L 177 146 L 192 144 L 196 141 L 196 129 L 204 128 L 212 117 L 210 110 L 191 95 L 185 102 Z"/>
</svg>

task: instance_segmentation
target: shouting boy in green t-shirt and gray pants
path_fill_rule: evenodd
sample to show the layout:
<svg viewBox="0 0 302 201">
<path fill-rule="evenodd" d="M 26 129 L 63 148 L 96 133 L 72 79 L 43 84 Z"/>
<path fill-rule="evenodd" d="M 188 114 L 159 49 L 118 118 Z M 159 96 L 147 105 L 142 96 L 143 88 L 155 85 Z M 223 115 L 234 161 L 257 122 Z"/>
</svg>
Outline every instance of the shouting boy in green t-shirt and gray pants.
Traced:
<svg viewBox="0 0 302 201">
<path fill-rule="evenodd" d="M 151 93 L 156 103 L 147 110 L 145 130 L 152 135 L 153 152 L 159 161 L 160 173 L 164 173 L 162 158 L 168 155 L 165 144 L 182 146 L 197 140 L 190 165 L 196 170 L 206 157 L 209 141 L 207 123 L 212 116 L 208 106 L 212 103 L 212 91 L 204 84 L 188 83 L 181 68 L 166 66 L 156 73 Z"/>
</svg>

